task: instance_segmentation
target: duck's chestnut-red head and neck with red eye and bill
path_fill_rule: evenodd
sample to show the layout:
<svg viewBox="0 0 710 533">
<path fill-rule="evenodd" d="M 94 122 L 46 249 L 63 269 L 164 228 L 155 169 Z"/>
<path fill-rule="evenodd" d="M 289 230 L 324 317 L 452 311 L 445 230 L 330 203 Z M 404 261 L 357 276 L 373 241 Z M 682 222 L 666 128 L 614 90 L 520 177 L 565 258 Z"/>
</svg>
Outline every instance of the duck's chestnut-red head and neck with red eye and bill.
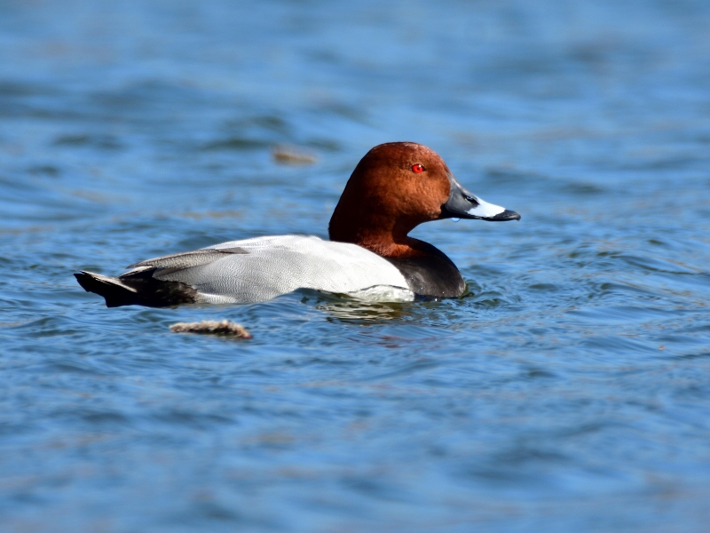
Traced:
<svg viewBox="0 0 710 533">
<path fill-rule="evenodd" d="M 454 178 L 434 150 L 414 142 L 372 148 L 348 180 L 330 219 L 332 241 L 388 255 L 393 243 L 422 222 L 438 219 L 519 220 L 516 211 L 486 203 Z"/>
</svg>

